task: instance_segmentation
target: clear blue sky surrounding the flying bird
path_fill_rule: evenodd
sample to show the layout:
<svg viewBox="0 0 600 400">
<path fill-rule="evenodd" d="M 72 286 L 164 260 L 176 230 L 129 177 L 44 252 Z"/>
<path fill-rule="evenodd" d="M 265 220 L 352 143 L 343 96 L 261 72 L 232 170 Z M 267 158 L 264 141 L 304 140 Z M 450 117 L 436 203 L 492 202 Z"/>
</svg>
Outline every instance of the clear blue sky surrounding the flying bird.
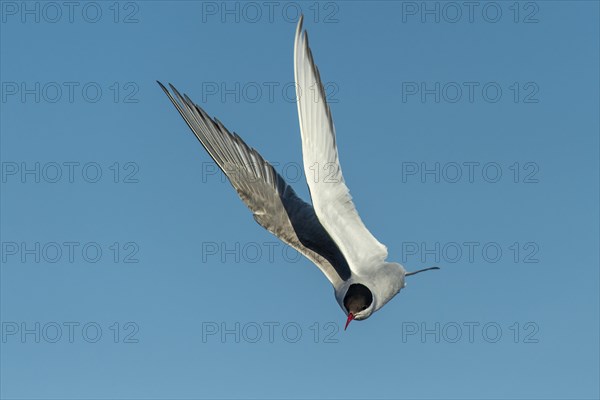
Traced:
<svg viewBox="0 0 600 400">
<path fill-rule="evenodd" d="M 598 3 L 472 7 L 2 1 L 2 398 L 598 398 Z M 442 267 L 346 332 L 155 83 L 307 199 L 300 9 L 363 220 Z"/>
</svg>

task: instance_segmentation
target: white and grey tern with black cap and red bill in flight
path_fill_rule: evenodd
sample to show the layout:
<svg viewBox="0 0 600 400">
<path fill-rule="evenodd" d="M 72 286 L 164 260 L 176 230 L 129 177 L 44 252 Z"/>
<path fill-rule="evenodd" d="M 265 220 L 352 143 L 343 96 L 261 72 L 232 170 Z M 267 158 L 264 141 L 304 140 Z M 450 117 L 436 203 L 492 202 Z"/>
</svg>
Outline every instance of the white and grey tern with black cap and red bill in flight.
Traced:
<svg viewBox="0 0 600 400">
<path fill-rule="evenodd" d="M 312 205 L 300 199 L 258 151 L 221 121 L 211 118 L 173 85 L 169 84 L 169 90 L 158 84 L 256 222 L 311 260 L 329 279 L 347 315 L 346 329 L 352 320 L 364 320 L 390 301 L 405 286 L 407 276 L 439 268 L 406 272 L 402 265 L 387 262 L 387 247 L 360 219 L 342 176 L 331 111 L 302 20 L 301 16 L 296 28 L 294 73 Z M 315 167 L 328 171 L 326 179 L 311 174 Z"/>
</svg>

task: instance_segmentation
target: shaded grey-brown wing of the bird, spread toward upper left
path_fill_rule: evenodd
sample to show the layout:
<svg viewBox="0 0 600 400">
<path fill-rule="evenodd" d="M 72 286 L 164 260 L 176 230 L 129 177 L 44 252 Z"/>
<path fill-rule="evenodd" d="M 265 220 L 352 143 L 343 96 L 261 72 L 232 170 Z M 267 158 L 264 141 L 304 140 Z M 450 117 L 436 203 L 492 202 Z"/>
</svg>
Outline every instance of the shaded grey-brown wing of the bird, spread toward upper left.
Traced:
<svg viewBox="0 0 600 400">
<path fill-rule="evenodd" d="M 313 207 L 302 201 L 271 164 L 237 134 L 210 118 L 172 85 L 169 86 L 173 93 L 158 84 L 227 175 L 256 222 L 310 259 L 334 287 L 347 280 L 350 277 L 348 263 L 319 223 Z"/>
</svg>

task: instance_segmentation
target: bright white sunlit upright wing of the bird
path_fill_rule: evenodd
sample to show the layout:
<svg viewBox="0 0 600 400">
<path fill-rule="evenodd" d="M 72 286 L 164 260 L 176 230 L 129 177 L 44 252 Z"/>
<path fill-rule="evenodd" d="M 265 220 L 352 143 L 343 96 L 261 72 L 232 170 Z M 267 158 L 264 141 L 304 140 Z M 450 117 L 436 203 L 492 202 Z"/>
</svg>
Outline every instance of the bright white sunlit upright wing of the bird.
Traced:
<svg viewBox="0 0 600 400">
<path fill-rule="evenodd" d="M 302 18 L 296 30 L 294 72 L 304 172 L 313 207 L 352 271 L 367 273 L 387 258 L 387 248 L 363 224 L 344 182 L 331 111 Z"/>
</svg>

